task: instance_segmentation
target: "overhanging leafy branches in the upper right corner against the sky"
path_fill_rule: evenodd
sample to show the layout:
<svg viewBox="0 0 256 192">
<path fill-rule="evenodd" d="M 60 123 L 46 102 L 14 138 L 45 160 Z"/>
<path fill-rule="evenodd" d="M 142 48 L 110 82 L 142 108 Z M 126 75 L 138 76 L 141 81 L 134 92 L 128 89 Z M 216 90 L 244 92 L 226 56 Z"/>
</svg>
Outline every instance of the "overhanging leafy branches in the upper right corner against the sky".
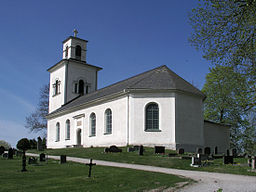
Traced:
<svg viewBox="0 0 256 192">
<path fill-rule="evenodd" d="M 256 106 L 256 0 L 203 0 L 192 10 L 190 42 L 213 63 L 245 75 Z M 248 109 L 248 110 L 249 110 Z"/>
</svg>

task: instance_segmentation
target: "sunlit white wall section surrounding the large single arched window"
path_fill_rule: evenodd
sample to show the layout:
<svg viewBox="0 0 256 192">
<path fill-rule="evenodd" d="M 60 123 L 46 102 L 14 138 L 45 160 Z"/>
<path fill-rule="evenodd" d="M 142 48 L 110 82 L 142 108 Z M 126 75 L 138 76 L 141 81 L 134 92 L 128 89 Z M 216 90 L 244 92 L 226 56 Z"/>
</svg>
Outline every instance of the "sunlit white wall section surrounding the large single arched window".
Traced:
<svg viewBox="0 0 256 192">
<path fill-rule="evenodd" d="M 145 131 L 145 107 L 149 103 L 159 106 L 160 132 Z M 136 93 L 130 95 L 129 144 L 175 147 L 175 98 L 173 93 Z"/>
</svg>

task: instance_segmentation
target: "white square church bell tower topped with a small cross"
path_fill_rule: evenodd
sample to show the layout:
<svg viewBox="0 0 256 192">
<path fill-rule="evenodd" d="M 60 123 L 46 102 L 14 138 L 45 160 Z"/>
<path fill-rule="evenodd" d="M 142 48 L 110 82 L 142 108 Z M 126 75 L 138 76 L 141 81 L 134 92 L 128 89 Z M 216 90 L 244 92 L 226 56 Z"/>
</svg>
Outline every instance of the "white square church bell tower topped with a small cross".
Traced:
<svg viewBox="0 0 256 192">
<path fill-rule="evenodd" d="M 62 60 L 50 67 L 49 113 L 79 96 L 97 90 L 98 71 L 102 68 L 86 61 L 87 40 L 74 36 L 63 43 Z"/>
</svg>

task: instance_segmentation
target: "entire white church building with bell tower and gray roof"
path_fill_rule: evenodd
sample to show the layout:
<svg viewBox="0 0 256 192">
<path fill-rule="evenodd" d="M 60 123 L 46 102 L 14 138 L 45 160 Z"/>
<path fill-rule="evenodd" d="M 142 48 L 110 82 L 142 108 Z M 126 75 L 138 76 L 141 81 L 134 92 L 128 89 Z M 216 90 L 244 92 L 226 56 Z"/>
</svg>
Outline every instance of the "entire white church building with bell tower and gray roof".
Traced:
<svg viewBox="0 0 256 192">
<path fill-rule="evenodd" d="M 229 127 L 204 121 L 206 96 L 165 65 L 97 89 L 86 40 L 63 41 L 50 73 L 47 148 L 165 146 L 195 152 L 229 149 Z"/>
</svg>

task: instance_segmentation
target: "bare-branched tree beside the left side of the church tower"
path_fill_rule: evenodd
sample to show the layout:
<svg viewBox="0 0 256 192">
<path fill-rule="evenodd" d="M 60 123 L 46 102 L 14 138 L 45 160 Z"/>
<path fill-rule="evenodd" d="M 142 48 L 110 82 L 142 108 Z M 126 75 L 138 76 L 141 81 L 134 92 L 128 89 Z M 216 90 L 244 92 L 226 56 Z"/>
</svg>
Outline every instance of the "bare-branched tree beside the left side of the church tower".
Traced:
<svg viewBox="0 0 256 192">
<path fill-rule="evenodd" d="M 26 117 L 25 127 L 31 132 L 46 131 L 49 105 L 49 84 L 44 85 L 40 90 L 39 103 L 36 110 Z"/>
</svg>

